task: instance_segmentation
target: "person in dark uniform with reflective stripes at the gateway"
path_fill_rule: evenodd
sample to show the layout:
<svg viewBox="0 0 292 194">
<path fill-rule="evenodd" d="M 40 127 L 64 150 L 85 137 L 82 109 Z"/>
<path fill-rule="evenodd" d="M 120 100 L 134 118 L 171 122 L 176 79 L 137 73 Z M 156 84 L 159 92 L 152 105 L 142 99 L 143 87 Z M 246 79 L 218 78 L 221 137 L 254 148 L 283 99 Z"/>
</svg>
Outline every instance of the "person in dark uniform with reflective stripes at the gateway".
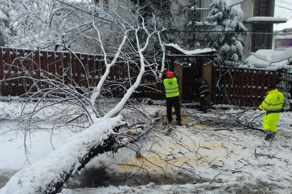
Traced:
<svg viewBox="0 0 292 194">
<path fill-rule="evenodd" d="M 195 79 L 192 92 L 194 96 L 200 98 L 201 111 L 207 112 L 208 109 L 207 97 L 210 94 L 208 82 L 201 78 Z"/>
</svg>

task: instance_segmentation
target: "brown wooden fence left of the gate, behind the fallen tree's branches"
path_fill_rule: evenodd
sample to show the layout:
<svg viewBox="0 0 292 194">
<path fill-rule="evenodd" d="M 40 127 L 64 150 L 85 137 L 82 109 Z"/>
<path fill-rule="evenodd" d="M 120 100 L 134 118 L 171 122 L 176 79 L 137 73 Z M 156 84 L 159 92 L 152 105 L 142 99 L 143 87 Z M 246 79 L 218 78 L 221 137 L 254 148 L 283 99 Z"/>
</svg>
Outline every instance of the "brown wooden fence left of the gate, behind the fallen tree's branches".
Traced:
<svg viewBox="0 0 292 194">
<path fill-rule="evenodd" d="M 96 86 L 106 69 L 103 56 L 84 53 L 74 54 L 0 47 L 0 80 L 25 76 L 25 72 L 28 72 L 36 80 L 41 80 L 41 75 L 46 75 L 74 87 Z M 13 65 L 11 65 L 12 63 Z M 117 62 L 110 69 L 103 89 L 108 91 L 108 95 L 121 98 L 126 92 L 125 88 L 128 89 L 133 84 L 136 76 L 137 71 L 135 71 L 134 65 L 128 68 L 127 64 Z M 137 92 L 133 94 L 133 97 L 162 98 L 161 83 L 156 83 L 153 76 L 145 75 L 141 85 Z M 37 87 L 45 89 L 52 86 L 46 82 L 34 82 L 32 79 L 19 78 L 2 81 L 0 83 L 0 94 L 1 96 L 21 96 L 26 94 L 27 91 L 36 91 Z"/>
</svg>

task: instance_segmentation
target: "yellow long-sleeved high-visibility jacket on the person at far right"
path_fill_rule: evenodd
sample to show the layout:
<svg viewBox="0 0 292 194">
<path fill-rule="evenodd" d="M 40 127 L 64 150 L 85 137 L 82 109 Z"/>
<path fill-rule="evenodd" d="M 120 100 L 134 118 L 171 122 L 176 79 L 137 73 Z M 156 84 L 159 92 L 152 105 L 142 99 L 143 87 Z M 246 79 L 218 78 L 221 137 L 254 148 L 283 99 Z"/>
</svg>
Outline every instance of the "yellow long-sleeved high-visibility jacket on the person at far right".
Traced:
<svg viewBox="0 0 292 194">
<path fill-rule="evenodd" d="M 260 105 L 260 109 L 281 110 L 284 104 L 284 99 L 284 95 L 279 92 L 278 89 L 268 91 L 268 95 Z"/>
</svg>

